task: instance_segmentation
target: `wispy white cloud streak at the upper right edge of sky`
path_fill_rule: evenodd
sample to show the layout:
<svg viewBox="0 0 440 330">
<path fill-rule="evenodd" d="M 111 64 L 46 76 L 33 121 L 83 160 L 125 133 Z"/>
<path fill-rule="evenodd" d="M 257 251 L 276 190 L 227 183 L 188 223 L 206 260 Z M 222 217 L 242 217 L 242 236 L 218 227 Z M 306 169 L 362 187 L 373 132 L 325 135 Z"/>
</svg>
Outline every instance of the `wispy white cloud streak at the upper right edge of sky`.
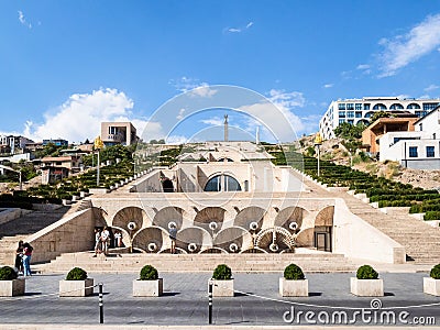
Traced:
<svg viewBox="0 0 440 330">
<path fill-rule="evenodd" d="M 378 55 L 381 77 L 394 76 L 398 69 L 416 62 L 440 45 L 440 14 L 429 15 L 408 33 L 393 40 L 382 38 L 384 51 Z"/>
</svg>

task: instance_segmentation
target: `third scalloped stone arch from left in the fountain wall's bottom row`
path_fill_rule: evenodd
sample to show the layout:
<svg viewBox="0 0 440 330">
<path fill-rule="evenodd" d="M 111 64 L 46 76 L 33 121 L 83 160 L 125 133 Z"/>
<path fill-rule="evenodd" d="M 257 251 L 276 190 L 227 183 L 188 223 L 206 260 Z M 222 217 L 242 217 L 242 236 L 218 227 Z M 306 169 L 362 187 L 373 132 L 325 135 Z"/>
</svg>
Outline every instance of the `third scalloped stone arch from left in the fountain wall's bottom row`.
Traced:
<svg viewBox="0 0 440 330">
<path fill-rule="evenodd" d="M 239 253 L 240 251 L 252 249 L 253 239 L 249 231 L 240 227 L 229 227 L 221 230 L 213 240 L 213 245 L 228 253 Z M 234 251 L 234 246 L 237 250 Z"/>
</svg>

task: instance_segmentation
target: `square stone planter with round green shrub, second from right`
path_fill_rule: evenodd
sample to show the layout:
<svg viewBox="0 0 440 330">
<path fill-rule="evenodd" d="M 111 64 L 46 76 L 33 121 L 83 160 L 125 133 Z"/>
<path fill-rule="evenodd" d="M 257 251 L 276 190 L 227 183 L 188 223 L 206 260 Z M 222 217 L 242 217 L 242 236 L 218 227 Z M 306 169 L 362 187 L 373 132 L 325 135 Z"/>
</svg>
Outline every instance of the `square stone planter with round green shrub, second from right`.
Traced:
<svg viewBox="0 0 440 330">
<path fill-rule="evenodd" d="M 350 290 L 355 296 L 383 297 L 384 280 L 372 266 L 363 265 L 359 267 L 356 277 L 350 278 Z"/>
</svg>

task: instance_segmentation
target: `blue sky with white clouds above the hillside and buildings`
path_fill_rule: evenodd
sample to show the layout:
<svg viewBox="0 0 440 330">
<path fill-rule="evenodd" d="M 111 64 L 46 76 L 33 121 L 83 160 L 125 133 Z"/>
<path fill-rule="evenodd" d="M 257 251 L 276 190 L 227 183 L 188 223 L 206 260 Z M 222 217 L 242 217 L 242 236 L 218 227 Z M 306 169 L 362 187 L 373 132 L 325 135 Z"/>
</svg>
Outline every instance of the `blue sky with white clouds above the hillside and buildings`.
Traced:
<svg viewBox="0 0 440 330">
<path fill-rule="evenodd" d="M 232 85 L 267 97 L 308 134 L 333 99 L 438 98 L 439 59 L 437 0 L 3 0 L 0 132 L 79 142 L 102 120 L 132 120 L 141 133 L 178 94 L 202 86 L 209 98 L 207 86 Z M 145 136 L 183 141 L 226 112 L 189 119 L 182 109 Z M 252 135 L 249 118 L 229 113 Z"/>
</svg>

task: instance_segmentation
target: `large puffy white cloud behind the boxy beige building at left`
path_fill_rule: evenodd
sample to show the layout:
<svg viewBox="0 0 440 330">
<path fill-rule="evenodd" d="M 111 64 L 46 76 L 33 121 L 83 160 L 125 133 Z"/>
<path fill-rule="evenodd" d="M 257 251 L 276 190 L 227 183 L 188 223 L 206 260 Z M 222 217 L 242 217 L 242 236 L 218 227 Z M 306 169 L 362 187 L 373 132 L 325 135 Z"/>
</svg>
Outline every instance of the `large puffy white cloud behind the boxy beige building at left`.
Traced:
<svg viewBox="0 0 440 330">
<path fill-rule="evenodd" d="M 42 141 L 63 138 L 69 142 L 95 139 L 102 121 L 131 121 L 141 135 L 147 121 L 133 118 L 133 101 L 117 89 L 74 94 L 62 106 L 44 114 L 43 123 L 26 121 L 23 135 Z M 148 123 L 148 135 L 161 132 L 160 123 Z"/>
</svg>

